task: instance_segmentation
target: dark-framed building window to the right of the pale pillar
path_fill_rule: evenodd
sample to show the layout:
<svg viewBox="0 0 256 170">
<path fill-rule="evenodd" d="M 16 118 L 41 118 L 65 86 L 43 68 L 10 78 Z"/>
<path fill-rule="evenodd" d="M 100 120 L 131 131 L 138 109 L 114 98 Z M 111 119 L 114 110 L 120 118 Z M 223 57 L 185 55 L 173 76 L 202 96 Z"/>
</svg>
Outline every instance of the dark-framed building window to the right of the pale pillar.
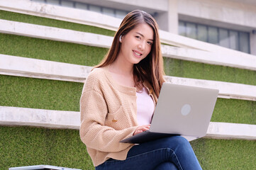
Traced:
<svg viewBox="0 0 256 170">
<path fill-rule="evenodd" d="M 250 33 L 179 21 L 179 35 L 250 53 Z"/>
</svg>

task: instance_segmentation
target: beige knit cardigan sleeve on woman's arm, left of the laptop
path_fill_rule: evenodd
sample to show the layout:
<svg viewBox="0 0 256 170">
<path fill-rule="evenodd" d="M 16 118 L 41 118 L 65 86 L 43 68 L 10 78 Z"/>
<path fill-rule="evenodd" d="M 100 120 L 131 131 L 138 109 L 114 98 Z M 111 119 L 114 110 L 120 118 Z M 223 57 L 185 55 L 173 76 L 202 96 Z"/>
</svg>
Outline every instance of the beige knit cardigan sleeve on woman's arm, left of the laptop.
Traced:
<svg viewBox="0 0 256 170">
<path fill-rule="evenodd" d="M 82 142 L 87 147 L 101 152 L 120 152 L 130 147 L 132 144 L 119 141 L 132 136 L 137 127 L 115 130 L 104 125 L 108 113 L 106 101 L 98 91 L 87 88 L 87 86 L 94 86 L 94 84 L 89 81 L 84 85 L 80 100 L 81 126 L 79 134 Z"/>
</svg>

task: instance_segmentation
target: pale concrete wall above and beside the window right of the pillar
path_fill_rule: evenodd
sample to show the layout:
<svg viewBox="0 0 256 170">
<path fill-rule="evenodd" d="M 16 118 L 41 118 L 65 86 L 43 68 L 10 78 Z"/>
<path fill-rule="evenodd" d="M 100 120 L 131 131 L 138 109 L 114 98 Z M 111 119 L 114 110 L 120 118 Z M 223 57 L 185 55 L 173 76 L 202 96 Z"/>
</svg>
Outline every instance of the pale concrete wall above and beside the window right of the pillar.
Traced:
<svg viewBox="0 0 256 170">
<path fill-rule="evenodd" d="M 179 0 L 179 19 L 252 33 L 256 29 L 256 1 Z M 256 40 L 250 34 L 250 50 L 256 55 Z"/>
</svg>

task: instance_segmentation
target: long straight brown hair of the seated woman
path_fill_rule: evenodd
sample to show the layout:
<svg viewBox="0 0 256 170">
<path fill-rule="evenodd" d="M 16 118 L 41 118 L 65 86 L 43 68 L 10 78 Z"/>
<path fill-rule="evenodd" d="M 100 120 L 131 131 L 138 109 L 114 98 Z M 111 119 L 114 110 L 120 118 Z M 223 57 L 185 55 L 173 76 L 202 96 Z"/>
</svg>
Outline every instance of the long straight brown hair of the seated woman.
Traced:
<svg viewBox="0 0 256 170">
<path fill-rule="evenodd" d="M 139 82 L 148 81 L 152 86 L 153 91 L 158 98 L 160 94 L 160 89 L 164 79 L 164 69 L 162 61 L 162 52 L 160 46 L 160 37 L 158 33 L 158 25 L 155 19 L 145 11 L 131 11 L 123 18 L 121 25 L 119 26 L 116 35 L 113 38 L 111 48 L 108 50 L 108 53 L 96 67 L 105 67 L 113 63 L 118 57 L 120 52 L 121 43 L 119 38 L 121 35 L 126 35 L 130 30 L 133 30 L 135 26 L 138 26 L 140 23 L 147 23 L 154 32 L 154 42 L 151 47 L 151 51 L 145 59 L 141 60 L 138 64 L 133 66 L 133 77 L 135 84 Z"/>
</svg>

